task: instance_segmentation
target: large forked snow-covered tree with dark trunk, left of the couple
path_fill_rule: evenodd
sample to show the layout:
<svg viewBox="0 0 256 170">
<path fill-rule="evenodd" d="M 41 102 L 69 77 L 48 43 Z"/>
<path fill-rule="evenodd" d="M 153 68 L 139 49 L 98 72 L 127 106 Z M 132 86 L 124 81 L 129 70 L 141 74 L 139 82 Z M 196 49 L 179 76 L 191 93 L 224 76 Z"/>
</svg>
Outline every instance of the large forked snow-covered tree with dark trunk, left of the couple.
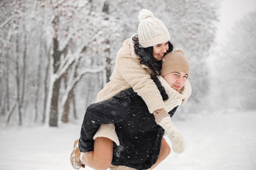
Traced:
<svg viewBox="0 0 256 170">
<path fill-rule="evenodd" d="M 53 67 L 49 72 L 49 87 L 52 88 L 48 93 L 47 108 L 50 110 L 46 110 L 46 120 L 49 117 L 49 125 L 57 126 L 58 111 L 69 106 L 71 99 L 68 97 L 81 77 L 85 73 L 100 73 L 106 68 L 109 42 L 119 36 L 119 29 L 111 16 L 92 11 L 89 1 L 44 1 L 42 5 L 46 11 L 52 11 L 52 16 L 47 18 L 53 18 L 54 30 L 54 34 L 50 33 L 53 38 L 50 64 Z M 69 111 L 64 109 L 64 121 L 67 121 Z"/>
</svg>

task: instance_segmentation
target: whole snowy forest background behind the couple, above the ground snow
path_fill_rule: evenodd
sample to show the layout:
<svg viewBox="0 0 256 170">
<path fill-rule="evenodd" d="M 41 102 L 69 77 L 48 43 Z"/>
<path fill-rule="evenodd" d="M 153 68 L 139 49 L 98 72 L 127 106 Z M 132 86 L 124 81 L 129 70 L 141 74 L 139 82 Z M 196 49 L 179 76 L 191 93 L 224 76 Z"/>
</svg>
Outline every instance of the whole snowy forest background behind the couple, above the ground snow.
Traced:
<svg viewBox="0 0 256 170">
<path fill-rule="evenodd" d="M 0 127 L 81 123 L 143 8 L 190 62 L 193 92 L 177 112 L 256 110 L 256 10 L 215 42 L 221 0 L 148 2 L 0 0 Z"/>
</svg>

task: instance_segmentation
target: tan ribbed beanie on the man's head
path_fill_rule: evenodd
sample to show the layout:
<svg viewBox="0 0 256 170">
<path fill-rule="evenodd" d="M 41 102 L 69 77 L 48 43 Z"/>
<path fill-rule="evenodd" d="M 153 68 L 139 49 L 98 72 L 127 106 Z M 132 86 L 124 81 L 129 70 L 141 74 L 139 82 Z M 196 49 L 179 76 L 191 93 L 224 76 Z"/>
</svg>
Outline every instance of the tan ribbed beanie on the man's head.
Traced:
<svg viewBox="0 0 256 170">
<path fill-rule="evenodd" d="M 186 59 L 182 49 L 173 49 L 173 51 L 164 56 L 162 61 L 162 69 L 160 71 L 162 77 L 175 71 L 187 73 L 189 77 L 189 61 Z"/>
</svg>

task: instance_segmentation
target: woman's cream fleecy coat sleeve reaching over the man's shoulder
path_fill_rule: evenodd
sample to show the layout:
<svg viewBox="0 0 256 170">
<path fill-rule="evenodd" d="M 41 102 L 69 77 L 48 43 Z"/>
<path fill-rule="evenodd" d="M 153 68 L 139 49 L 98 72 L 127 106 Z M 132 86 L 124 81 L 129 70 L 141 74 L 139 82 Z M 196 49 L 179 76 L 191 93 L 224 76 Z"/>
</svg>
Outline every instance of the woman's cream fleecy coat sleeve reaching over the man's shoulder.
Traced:
<svg viewBox="0 0 256 170">
<path fill-rule="evenodd" d="M 144 100 L 150 113 L 164 108 L 162 96 L 151 79 L 150 73 L 141 66 L 140 58 L 135 54 L 133 43 L 126 42 L 123 44 L 117 53 L 115 67 L 132 89 Z"/>
</svg>

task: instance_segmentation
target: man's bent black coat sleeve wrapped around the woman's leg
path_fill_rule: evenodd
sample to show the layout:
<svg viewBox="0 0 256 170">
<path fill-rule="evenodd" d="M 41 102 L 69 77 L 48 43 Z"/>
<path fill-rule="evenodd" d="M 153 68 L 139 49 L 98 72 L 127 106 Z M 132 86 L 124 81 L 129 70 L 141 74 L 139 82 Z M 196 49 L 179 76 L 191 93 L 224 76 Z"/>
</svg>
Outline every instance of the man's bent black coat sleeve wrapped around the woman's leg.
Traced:
<svg viewBox="0 0 256 170">
<path fill-rule="evenodd" d="M 126 94 L 116 95 L 111 99 L 88 106 L 81 127 L 79 148 L 81 152 L 93 150 L 93 136 L 101 124 L 117 124 L 128 113 L 129 100 Z"/>
</svg>

